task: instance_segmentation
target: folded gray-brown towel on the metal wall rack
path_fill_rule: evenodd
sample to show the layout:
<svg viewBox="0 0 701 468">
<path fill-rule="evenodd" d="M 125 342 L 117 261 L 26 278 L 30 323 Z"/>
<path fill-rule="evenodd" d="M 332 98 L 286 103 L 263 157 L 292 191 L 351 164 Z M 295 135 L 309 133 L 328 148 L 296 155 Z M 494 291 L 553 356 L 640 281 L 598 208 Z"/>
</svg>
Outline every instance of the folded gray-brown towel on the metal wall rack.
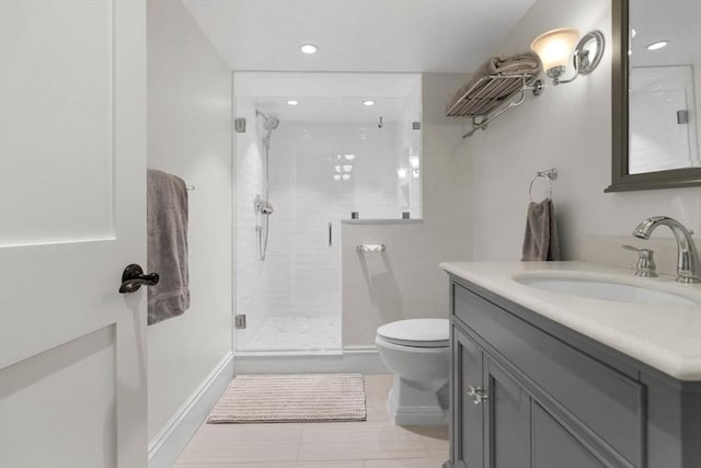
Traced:
<svg viewBox="0 0 701 468">
<path fill-rule="evenodd" d="M 491 76 L 510 76 L 510 75 L 538 75 L 540 71 L 540 60 L 538 56 L 532 52 L 525 52 L 517 55 L 497 55 L 490 57 L 484 64 L 478 68 L 468 82 L 455 93 L 452 98 L 446 104 L 446 113 L 467 93 L 470 88 L 476 84 L 482 78 Z M 483 81 L 481 85 L 476 87 L 471 95 L 466 99 L 478 95 L 480 91 L 486 85 L 486 81 Z M 520 85 L 518 87 L 520 88 Z M 517 88 L 517 89 L 518 89 Z M 502 93 L 494 96 L 494 100 L 504 99 L 514 92 L 513 88 L 504 88 Z M 455 114 L 456 110 L 451 114 Z"/>
</svg>

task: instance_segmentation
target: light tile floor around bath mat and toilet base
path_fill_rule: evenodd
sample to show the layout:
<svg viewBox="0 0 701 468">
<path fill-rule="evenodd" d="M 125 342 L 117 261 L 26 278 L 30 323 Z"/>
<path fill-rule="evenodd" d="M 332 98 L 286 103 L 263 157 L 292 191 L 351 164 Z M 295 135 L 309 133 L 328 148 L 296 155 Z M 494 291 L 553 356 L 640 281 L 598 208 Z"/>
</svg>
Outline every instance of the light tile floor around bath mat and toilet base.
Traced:
<svg viewBox="0 0 701 468">
<path fill-rule="evenodd" d="M 365 376 L 363 422 L 203 424 L 174 468 L 440 468 L 448 427 L 400 427 L 386 409 L 392 376 Z"/>
</svg>

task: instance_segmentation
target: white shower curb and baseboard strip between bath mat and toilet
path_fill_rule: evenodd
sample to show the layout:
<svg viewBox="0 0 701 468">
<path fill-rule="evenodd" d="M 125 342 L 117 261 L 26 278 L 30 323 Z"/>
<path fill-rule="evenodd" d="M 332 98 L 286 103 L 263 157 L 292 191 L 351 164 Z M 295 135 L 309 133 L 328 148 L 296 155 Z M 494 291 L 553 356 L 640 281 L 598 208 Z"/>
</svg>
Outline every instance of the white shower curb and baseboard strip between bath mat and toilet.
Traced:
<svg viewBox="0 0 701 468">
<path fill-rule="evenodd" d="M 347 346 L 337 354 L 246 355 L 237 353 L 235 374 L 360 373 L 390 374 L 375 345 Z"/>
</svg>

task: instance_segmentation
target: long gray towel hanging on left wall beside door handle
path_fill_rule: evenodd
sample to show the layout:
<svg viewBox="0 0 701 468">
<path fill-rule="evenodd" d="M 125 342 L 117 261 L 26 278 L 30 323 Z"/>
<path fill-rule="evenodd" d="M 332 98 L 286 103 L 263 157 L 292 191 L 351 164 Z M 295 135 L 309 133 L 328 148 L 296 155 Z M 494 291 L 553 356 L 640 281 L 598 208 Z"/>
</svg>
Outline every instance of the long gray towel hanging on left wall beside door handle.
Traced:
<svg viewBox="0 0 701 468">
<path fill-rule="evenodd" d="M 147 194 L 148 271 L 161 277 L 148 288 L 153 324 L 189 308 L 187 189 L 182 179 L 149 169 Z"/>
</svg>

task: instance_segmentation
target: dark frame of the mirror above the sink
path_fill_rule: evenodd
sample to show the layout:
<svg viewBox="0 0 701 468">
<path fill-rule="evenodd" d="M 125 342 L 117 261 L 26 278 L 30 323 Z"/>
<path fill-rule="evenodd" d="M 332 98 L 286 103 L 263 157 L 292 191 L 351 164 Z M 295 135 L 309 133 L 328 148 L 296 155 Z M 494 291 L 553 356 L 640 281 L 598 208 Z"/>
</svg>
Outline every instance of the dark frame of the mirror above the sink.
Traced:
<svg viewBox="0 0 701 468">
<path fill-rule="evenodd" d="M 611 42 L 611 185 L 605 192 L 625 192 L 655 189 L 682 189 L 701 185 L 701 168 L 670 171 L 628 173 L 629 118 L 628 118 L 628 31 L 629 0 L 612 0 Z"/>
</svg>

